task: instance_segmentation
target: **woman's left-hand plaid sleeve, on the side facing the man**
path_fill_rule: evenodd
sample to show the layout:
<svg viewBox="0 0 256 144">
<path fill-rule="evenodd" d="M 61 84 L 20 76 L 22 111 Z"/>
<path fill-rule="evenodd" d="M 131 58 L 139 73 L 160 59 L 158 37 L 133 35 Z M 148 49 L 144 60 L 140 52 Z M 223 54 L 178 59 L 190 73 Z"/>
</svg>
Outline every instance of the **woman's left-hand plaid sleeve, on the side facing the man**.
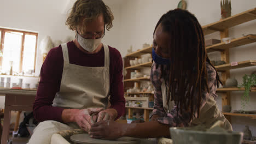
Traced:
<svg viewBox="0 0 256 144">
<path fill-rule="evenodd" d="M 160 117 L 165 116 L 165 110 L 164 106 L 162 104 L 162 91 L 161 91 L 161 85 L 162 85 L 162 79 L 161 77 L 161 68 L 156 66 L 157 64 L 153 63 L 152 69 L 150 72 L 150 80 L 154 86 L 154 110 L 149 118 L 151 118 L 153 115 L 158 115 Z"/>
</svg>

